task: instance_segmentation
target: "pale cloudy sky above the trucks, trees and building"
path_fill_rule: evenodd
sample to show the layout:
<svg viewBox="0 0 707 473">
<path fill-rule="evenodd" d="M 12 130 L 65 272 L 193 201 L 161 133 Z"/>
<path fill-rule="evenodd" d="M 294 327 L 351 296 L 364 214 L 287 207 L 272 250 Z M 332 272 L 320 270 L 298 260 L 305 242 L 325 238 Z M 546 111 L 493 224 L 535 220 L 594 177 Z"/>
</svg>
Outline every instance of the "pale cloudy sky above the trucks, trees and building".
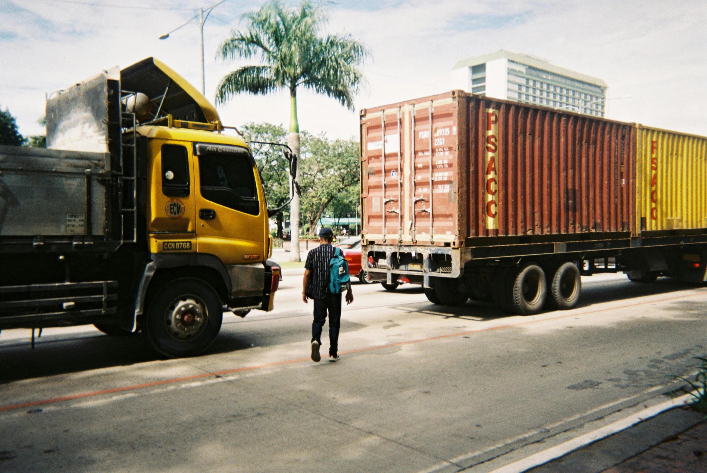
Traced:
<svg viewBox="0 0 707 473">
<path fill-rule="evenodd" d="M 20 132 L 41 134 L 45 94 L 156 57 L 201 88 L 199 28 L 189 21 L 216 0 L 0 0 L 0 107 Z M 288 1 L 295 6 L 297 2 Z M 204 27 L 206 97 L 255 60 L 222 62 L 216 48 L 262 1 L 226 0 Z M 327 31 L 363 42 L 366 86 L 356 110 L 298 92 L 300 129 L 358 136 L 358 110 L 450 89 L 452 66 L 507 49 L 604 79 L 607 117 L 707 135 L 706 0 L 339 0 Z M 288 124 L 286 93 L 238 95 L 218 111 L 224 124 Z"/>
</svg>

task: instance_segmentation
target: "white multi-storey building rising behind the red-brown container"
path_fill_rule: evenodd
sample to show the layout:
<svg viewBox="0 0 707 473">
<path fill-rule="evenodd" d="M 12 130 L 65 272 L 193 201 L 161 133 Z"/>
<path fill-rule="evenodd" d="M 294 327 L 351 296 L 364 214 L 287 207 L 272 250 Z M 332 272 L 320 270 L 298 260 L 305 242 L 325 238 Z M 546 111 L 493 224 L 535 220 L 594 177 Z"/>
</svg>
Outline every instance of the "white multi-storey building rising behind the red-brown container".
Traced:
<svg viewBox="0 0 707 473">
<path fill-rule="evenodd" d="M 604 117 L 607 83 L 503 49 L 464 59 L 452 69 L 452 89 Z"/>
</svg>

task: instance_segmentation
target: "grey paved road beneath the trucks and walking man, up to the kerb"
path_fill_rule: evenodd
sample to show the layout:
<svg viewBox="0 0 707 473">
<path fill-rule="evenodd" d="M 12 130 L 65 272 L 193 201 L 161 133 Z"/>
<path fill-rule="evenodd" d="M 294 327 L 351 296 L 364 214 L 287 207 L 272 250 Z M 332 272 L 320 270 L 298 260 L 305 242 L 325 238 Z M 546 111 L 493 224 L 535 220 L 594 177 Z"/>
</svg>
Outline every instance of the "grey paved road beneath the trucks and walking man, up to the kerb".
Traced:
<svg viewBox="0 0 707 473">
<path fill-rule="evenodd" d="M 595 276 L 579 308 L 532 317 L 356 285 L 341 360 L 313 363 L 300 291 L 287 276 L 273 313 L 224 317 L 195 358 L 90 327 L 45 330 L 34 350 L 28 330 L 2 332 L 0 471 L 489 471 L 658 395 L 707 352 L 707 288 Z"/>
</svg>

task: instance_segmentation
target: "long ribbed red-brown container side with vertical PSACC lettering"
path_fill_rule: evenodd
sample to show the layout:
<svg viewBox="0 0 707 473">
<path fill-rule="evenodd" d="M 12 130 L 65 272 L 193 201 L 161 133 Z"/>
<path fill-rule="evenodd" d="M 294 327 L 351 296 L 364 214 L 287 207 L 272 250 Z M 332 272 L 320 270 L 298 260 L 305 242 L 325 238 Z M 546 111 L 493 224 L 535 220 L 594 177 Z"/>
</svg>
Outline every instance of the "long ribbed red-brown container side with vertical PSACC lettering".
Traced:
<svg viewBox="0 0 707 473">
<path fill-rule="evenodd" d="M 629 232 L 631 124 L 469 98 L 469 237 Z"/>
</svg>

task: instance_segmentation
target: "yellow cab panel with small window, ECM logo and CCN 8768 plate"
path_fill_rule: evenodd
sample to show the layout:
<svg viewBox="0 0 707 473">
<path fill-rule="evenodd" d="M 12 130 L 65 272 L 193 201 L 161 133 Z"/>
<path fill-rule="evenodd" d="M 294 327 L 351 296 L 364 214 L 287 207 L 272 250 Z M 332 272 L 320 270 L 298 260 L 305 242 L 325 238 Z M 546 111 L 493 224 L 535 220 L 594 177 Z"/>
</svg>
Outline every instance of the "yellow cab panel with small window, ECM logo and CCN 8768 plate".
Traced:
<svg viewBox="0 0 707 473">
<path fill-rule="evenodd" d="M 194 251 L 194 171 L 184 141 L 151 140 L 149 233 L 152 252 Z"/>
</svg>

